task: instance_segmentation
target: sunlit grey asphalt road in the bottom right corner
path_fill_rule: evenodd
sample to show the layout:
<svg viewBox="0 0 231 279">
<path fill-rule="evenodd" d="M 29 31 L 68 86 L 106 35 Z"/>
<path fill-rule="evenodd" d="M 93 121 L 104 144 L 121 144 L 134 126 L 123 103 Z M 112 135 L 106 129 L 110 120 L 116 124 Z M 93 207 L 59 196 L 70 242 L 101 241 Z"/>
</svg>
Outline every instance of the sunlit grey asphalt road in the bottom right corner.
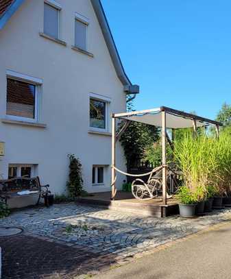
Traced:
<svg viewBox="0 0 231 279">
<path fill-rule="evenodd" d="M 231 223 L 94 278 L 231 279 Z"/>
</svg>

